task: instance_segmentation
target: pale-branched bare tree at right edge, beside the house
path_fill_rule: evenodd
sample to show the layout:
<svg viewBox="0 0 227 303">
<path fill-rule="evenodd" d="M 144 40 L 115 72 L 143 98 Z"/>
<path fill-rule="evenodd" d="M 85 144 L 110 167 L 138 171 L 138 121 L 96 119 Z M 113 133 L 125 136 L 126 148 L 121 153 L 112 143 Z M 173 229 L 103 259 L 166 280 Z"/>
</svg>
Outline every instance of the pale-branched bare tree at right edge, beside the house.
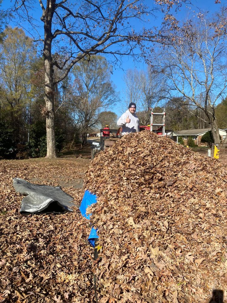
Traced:
<svg viewBox="0 0 227 303">
<path fill-rule="evenodd" d="M 163 49 L 158 69 L 169 77 L 178 96 L 183 97 L 176 98 L 181 107 L 185 106 L 195 116 L 196 109 L 205 113 L 205 118 L 202 115 L 199 118 L 209 123 L 218 144 L 215 104 L 227 91 L 226 40 L 223 35 L 215 36 L 214 26 L 207 24 L 205 18 L 186 22 L 180 33 Z"/>
</svg>

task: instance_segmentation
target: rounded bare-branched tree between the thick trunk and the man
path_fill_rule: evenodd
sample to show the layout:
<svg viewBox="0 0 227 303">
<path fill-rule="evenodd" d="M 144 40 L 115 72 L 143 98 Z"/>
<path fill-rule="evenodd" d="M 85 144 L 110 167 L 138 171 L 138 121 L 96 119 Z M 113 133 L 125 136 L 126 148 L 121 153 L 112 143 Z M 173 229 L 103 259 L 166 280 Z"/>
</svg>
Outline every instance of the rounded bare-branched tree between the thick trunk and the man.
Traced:
<svg viewBox="0 0 227 303">
<path fill-rule="evenodd" d="M 89 130 L 100 122 L 99 113 L 117 101 L 110 72 L 107 60 L 100 55 L 87 55 L 73 68 L 77 87 L 74 113 L 81 127 L 82 145 L 87 142 Z"/>
</svg>

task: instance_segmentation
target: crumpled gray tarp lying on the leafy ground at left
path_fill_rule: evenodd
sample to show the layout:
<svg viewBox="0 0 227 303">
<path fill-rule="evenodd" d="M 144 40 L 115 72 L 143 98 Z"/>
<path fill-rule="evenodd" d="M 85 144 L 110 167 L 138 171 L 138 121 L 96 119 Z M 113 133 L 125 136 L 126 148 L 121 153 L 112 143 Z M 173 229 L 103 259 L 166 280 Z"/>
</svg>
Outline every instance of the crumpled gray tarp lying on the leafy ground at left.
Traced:
<svg viewBox="0 0 227 303">
<path fill-rule="evenodd" d="M 67 195 L 59 186 L 35 185 L 20 178 L 13 178 L 16 192 L 25 196 L 21 201 L 20 213 L 59 213 L 73 211 L 73 197 Z"/>
</svg>

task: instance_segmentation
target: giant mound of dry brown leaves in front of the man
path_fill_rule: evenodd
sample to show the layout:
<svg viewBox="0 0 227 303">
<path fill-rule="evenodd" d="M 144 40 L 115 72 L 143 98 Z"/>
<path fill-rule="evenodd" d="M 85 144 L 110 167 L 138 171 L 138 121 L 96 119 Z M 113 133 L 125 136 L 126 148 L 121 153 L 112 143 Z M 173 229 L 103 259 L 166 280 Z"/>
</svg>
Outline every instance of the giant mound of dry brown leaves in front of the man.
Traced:
<svg viewBox="0 0 227 303">
<path fill-rule="evenodd" d="M 151 132 L 100 153 L 86 183 L 98 196 L 100 302 L 208 302 L 225 291 L 226 185 L 219 161 Z"/>
</svg>

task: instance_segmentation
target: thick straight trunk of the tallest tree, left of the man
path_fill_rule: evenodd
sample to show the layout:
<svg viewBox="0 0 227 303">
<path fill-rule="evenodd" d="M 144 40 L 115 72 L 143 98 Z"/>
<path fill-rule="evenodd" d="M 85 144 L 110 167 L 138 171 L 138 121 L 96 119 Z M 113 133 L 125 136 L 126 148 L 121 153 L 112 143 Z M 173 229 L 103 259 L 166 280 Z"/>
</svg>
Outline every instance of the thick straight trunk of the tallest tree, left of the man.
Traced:
<svg viewBox="0 0 227 303">
<path fill-rule="evenodd" d="M 46 131 L 47 131 L 47 155 L 46 158 L 56 158 L 56 142 L 54 133 L 54 80 L 51 55 L 52 18 L 54 14 L 55 0 L 47 0 L 44 22 L 44 69 L 45 69 L 45 103 L 46 103 Z"/>
</svg>

